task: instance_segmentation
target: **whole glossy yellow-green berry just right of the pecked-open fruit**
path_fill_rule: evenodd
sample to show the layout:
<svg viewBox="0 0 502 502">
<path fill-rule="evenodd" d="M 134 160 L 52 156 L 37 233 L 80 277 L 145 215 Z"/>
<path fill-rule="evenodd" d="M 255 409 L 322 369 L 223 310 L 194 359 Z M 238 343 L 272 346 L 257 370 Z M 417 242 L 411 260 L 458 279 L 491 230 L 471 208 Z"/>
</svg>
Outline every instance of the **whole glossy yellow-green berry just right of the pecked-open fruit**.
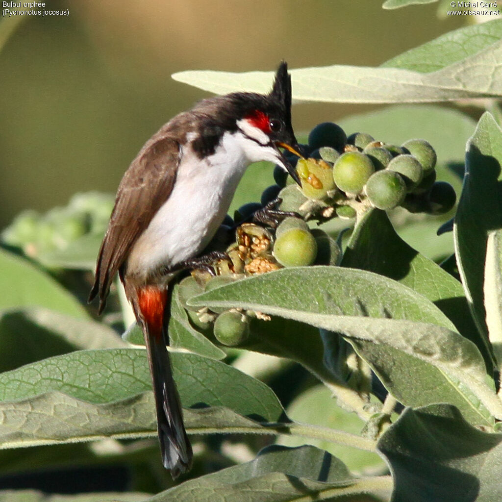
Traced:
<svg viewBox="0 0 502 502">
<path fill-rule="evenodd" d="M 359 193 L 373 172 L 373 163 L 361 152 L 346 152 L 333 165 L 336 186 L 346 193 Z"/>
</svg>

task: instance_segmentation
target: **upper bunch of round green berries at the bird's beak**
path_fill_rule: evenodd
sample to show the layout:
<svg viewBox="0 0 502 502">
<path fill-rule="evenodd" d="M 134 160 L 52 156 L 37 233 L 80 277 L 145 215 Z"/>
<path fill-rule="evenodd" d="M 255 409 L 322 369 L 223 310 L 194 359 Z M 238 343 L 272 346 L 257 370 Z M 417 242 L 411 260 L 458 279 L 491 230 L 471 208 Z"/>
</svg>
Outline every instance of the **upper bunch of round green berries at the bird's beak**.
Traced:
<svg viewBox="0 0 502 502">
<path fill-rule="evenodd" d="M 300 159 L 288 154 L 290 162 L 296 163 L 301 188 L 287 185 L 279 167 L 274 177 L 282 188 L 281 209 L 298 212 L 305 219 L 351 218 L 370 207 L 397 206 L 442 214 L 455 204 L 453 187 L 436 182 L 436 152 L 425 140 L 396 146 L 364 133 L 347 138 L 337 124 L 323 122 L 311 131 L 301 153 Z"/>
</svg>

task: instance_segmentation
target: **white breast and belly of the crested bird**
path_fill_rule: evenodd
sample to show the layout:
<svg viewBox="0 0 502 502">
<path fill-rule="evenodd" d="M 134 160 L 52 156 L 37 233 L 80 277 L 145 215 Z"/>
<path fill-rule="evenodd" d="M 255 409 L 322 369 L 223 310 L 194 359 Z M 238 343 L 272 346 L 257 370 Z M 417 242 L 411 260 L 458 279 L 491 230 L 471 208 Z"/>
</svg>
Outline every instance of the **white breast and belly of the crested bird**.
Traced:
<svg viewBox="0 0 502 502">
<path fill-rule="evenodd" d="M 183 150 L 171 196 L 133 246 L 128 273 L 146 276 L 204 249 L 250 163 L 241 143 L 240 135 L 225 133 L 216 153 L 204 160 L 190 146 Z"/>
</svg>

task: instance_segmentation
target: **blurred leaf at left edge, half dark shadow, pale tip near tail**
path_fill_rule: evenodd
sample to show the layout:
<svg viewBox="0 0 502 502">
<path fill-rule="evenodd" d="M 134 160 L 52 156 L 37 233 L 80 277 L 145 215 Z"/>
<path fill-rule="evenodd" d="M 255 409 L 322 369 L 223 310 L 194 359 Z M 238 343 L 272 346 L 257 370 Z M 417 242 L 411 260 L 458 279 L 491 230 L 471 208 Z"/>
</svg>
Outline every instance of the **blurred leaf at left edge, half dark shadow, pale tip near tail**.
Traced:
<svg viewBox="0 0 502 502">
<path fill-rule="evenodd" d="M 35 307 L 0 312 L 0 371 L 85 348 L 125 347 L 102 323 Z"/>
</svg>

